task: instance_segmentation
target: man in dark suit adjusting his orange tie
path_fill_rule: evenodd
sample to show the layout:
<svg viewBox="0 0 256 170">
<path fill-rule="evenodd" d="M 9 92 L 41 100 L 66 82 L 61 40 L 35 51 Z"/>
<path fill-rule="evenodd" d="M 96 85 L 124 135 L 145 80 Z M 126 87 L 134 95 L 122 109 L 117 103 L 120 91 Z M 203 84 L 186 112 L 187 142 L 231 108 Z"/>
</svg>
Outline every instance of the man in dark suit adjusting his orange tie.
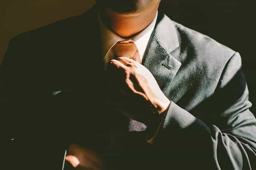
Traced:
<svg viewBox="0 0 256 170">
<path fill-rule="evenodd" d="M 7 169 L 60 169 L 63 155 L 64 169 L 256 167 L 239 53 L 170 20 L 159 3 L 98 0 L 10 41 Z"/>
</svg>

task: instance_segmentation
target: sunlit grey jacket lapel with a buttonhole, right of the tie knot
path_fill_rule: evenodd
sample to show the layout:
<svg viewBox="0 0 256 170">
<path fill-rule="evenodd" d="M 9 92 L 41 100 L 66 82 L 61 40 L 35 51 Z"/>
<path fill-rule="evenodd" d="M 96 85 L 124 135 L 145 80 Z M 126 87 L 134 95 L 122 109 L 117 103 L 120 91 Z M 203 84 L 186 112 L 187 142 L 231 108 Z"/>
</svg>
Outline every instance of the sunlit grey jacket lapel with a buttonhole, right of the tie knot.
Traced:
<svg viewBox="0 0 256 170">
<path fill-rule="evenodd" d="M 178 47 L 174 23 L 159 14 L 142 64 L 150 70 L 166 96 L 169 96 L 168 89 L 181 66 L 180 61 L 170 55 Z"/>
</svg>

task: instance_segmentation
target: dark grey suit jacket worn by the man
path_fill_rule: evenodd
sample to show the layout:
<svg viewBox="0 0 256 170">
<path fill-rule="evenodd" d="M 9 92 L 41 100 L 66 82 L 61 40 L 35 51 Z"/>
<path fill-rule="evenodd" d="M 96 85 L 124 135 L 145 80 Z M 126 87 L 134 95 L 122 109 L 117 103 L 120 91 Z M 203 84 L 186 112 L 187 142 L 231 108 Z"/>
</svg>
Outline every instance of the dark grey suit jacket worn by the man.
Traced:
<svg viewBox="0 0 256 170">
<path fill-rule="evenodd" d="M 100 42 L 96 8 L 10 41 L 0 72 L 5 169 L 60 169 L 74 141 L 102 152 L 110 169 L 256 168 L 239 53 L 161 12 L 142 64 L 172 100 L 164 123 L 153 145 L 147 131 L 129 132 L 136 140 L 128 135 L 122 152 L 104 150 L 109 129 L 126 124 L 106 106 Z"/>
</svg>

